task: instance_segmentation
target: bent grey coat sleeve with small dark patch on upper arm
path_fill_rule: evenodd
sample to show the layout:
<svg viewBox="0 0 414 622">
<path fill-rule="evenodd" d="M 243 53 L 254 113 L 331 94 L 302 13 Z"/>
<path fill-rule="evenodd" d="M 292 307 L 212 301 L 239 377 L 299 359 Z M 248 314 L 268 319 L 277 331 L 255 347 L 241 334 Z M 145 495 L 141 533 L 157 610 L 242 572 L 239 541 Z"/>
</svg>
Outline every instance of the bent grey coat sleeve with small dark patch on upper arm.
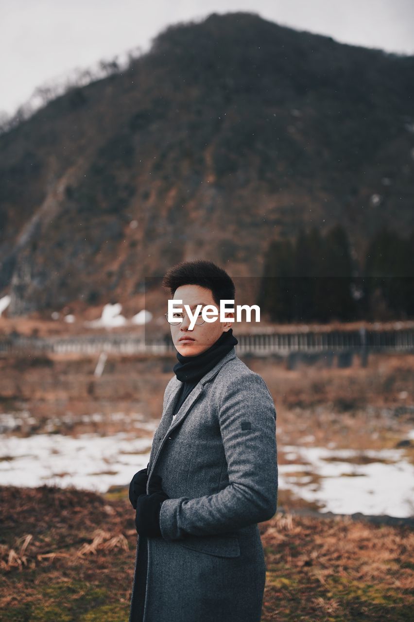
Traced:
<svg viewBox="0 0 414 622">
<path fill-rule="evenodd" d="M 167 499 L 160 511 L 162 537 L 223 534 L 267 521 L 277 508 L 276 411 L 259 374 L 232 380 L 219 402 L 219 423 L 229 484 L 215 494 Z"/>
</svg>

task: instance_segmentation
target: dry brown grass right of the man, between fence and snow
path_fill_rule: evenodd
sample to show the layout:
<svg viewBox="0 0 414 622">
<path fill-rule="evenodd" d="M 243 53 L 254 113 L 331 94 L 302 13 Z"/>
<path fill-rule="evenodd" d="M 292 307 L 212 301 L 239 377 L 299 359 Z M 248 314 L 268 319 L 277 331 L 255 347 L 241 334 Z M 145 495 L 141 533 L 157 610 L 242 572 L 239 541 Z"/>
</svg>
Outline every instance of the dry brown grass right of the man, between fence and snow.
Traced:
<svg viewBox="0 0 414 622">
<path fill-rule="evenodd" d="M 274 397 L 283 445 L 392 448 L 413 428 L 414 355 L 370 355 L 367 368 L 357 359 L 347 369 L 289 370 L 264 359 L 249 366 Z"/>
</svg>

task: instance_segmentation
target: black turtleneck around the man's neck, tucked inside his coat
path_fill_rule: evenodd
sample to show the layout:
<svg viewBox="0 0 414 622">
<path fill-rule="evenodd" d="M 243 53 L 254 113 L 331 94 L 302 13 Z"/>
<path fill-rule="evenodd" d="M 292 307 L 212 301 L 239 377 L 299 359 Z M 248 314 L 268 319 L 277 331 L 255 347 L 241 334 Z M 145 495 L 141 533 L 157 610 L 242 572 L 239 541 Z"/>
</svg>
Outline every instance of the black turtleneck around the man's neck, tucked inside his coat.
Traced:
<svg viewBox="0 0 414 622">
<path fill-rule="evenodd" d="M 183 356 L 177 352 L 178 363 L 173 367 L 173 371 L 180 380 L 182 388 L 178 394 L 177 404 L 173 415 L 175 415 L 182 406 L 186 397 L 195 388 L 196 384 L 210 371 L 213 367 L 221 361 L 223 356 L 229 353 L 233 346 L 239 341 L 233 335 L 232 328 L 229 328 L 227 332 L 223 332 L 217 341 L 214 341 L 213 345 L 201 352 L 196 356 Z"/>
</svg>

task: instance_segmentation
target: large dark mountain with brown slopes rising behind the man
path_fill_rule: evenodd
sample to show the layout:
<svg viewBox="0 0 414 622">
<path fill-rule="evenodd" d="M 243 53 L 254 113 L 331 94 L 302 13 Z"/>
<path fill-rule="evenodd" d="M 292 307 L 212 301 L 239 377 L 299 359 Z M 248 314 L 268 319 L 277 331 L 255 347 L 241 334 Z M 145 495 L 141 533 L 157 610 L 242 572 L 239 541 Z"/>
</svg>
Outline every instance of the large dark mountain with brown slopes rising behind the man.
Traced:
<svg viewBox="0 0 414 622">
<path fill-rule="evenodd" d="M 260 277 L 272 241 L 314 225 L 342 225 L 356 262 L 379 228 L 408 235 L 413 75 L 255 14 L 168 27 L 0 136 L 9 316 L 133 306 L 182 259 Z"/>
</svg>

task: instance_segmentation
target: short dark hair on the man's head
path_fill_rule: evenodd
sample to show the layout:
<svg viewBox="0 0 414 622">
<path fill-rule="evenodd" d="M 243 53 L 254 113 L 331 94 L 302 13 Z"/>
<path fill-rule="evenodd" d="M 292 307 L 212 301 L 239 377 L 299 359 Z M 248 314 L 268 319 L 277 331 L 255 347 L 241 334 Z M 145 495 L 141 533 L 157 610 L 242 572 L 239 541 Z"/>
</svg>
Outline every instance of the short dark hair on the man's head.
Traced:
<svg viewBox="0 0 414 622">
<path fill-rule="evenodd" d="M 236 287 L 231 277 L 223 268 L 216 266 L 212 261 L 195 259 L 181 261 L 171 267 L 162 279 L 163 287 L 170 290 L 171 295 L 181 285 L 200 285 L 211 289 L 213 300 L 220 304 L 220 300 L 234 300 Z"/>
</svg>

